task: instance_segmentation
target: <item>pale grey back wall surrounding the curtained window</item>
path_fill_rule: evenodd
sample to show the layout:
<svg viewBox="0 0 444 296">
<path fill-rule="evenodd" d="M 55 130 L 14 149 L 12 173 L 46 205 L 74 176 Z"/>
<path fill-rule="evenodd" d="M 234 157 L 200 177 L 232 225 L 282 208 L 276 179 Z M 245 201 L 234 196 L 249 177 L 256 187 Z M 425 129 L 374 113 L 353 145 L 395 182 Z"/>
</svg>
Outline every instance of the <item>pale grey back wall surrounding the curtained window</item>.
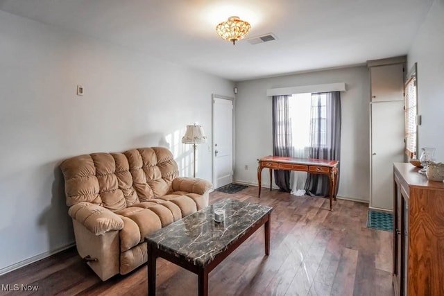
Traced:
<svg viewBox="0 0 444 296">
<path fill-rule="evenodd" d="M 348 89 L 341 92 L 341 179 L 338 195 L 368 201 L 370 83 L 367 67 L 239 82 L 236 96 L 234 179 L 237 182 L 257 184 L 257 159 L 273 154 L 271 98 L 266 96 L 266 89 L 334 82 L 345 82 Z M 248 170 L 245 169 L 246 165 Z M 269 184 L 268 170 L 263 170 L 262 185 Z"/>
</svg>

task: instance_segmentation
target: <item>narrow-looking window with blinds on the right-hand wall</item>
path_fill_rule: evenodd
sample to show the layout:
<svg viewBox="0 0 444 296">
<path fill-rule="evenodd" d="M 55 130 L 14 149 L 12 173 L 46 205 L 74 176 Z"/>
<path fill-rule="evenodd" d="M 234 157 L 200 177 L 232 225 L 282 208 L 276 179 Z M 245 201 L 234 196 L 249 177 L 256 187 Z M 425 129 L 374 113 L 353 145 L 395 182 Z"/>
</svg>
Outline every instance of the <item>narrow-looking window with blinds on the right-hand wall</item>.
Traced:
<svg viewBox="0 0 444 296">
<path fill-rule="evenodd" d="M 405 153 L 410 158 L 418 157 L 418 98 L 416 87 L 416 64 L 409 76 L 404 89 L 404 118 L 405 118 Z"/>
</svg>

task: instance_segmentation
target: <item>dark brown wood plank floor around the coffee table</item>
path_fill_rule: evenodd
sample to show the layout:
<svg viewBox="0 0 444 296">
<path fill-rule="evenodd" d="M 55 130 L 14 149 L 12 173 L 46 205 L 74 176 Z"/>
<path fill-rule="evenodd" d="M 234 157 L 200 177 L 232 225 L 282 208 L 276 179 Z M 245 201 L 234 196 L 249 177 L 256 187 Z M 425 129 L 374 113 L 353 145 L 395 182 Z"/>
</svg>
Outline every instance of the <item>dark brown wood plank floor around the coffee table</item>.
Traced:
<svg viewBox="0 0 444 296">
<path fill-rule="evenodd" d="M 258 199 L 255 186 L 210 194 L 211 203 L 223 198 L 273 207 L 271 254 L 259 229 L 210 273 L 210 295 L 394 295 L 392 234 L 366 228 L 367 204 L 337 200 L 331 212 L 325 198 L 263 189 Z M 71 248 L 0 277 L 3 287 L 36 285 L 36 293 L 0 295 L 146 295 L 146 273 L 102 282 Z M 197 276 L 158 259 L 157 295 L 197 295 Z"/>
</svg>

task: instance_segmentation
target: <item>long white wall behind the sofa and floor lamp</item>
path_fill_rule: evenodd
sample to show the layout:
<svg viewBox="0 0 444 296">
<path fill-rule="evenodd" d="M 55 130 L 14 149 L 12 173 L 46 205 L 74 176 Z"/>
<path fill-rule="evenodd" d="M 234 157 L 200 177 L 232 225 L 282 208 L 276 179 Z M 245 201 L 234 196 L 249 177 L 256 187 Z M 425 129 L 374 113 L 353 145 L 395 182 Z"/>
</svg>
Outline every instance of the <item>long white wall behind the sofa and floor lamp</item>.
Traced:
<svg viewBox="0 0 444 296">
<path fill-rule="evenodd" d="M 62 159 L 168 146 L 192 175 L 185 125 L 198 121 L 211 143 L 212 93 L 230 96 L 233 87 L 0 10 L 0 273 L 74 242 Z M 196 175 L 211 180 L 207 145 Z"/>
</svg>

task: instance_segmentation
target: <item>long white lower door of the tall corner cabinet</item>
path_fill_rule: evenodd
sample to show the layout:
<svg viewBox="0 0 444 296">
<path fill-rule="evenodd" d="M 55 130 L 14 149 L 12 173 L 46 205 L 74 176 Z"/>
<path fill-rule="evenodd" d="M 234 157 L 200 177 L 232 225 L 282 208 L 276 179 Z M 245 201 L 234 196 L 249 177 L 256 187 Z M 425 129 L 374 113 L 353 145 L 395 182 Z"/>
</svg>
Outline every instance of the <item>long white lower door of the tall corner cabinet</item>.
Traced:
<svg viewBox="0 0 444 296">
<path fill-rule="evenodd" d="M 370 207 L 393 210 L 393 162 L 404 162 L 404 102 L 371 104 Z"/>
</svg>

